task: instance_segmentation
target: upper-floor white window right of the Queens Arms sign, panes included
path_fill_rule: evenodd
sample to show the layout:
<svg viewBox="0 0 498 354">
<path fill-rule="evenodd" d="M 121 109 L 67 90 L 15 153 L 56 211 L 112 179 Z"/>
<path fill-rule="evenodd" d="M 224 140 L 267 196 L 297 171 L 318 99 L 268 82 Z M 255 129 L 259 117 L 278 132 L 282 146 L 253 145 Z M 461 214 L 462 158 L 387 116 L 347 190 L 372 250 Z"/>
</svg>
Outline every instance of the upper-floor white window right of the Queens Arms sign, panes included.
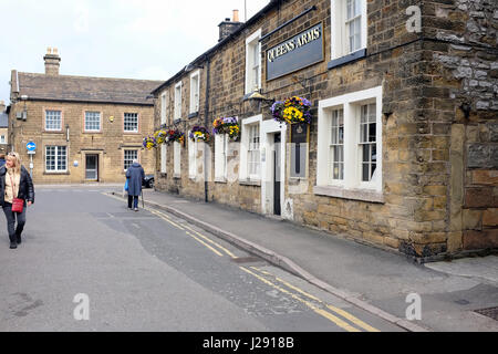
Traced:
<svg viewBox="0 0 498 354">
<path fill-rule="evenodd" d="M 331 0 L 332 59 L 366 48 L 366 0 Z"/>
</svg>

